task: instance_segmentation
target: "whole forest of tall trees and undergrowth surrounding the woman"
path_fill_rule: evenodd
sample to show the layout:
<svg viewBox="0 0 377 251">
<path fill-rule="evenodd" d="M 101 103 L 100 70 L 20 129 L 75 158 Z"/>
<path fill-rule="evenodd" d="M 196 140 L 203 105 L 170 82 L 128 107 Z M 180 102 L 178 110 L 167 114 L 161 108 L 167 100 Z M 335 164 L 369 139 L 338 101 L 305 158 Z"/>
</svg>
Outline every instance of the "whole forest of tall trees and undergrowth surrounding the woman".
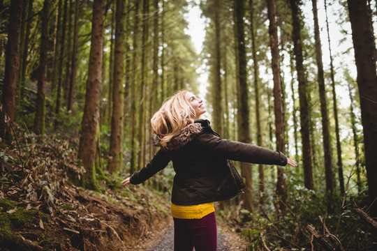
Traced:
<svg viewBox="0 0 377 251">
<path fill-rule="evenodd" d="M 0 250 L 148 250 L 174 169 L 121 181 L 182 89 L 297 163 L 235 162 L 228 250 L 376 250 L 376 29 L 373 0 L 0 0 Z"/>
</svg>

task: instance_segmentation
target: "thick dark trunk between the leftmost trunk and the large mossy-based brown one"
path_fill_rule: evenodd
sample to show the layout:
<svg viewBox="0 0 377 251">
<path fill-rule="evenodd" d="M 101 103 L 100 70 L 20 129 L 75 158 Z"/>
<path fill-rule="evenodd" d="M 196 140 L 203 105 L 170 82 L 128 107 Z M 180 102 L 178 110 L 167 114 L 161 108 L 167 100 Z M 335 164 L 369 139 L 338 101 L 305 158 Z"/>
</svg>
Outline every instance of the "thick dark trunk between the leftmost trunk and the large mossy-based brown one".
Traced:
<svg viewBox="0 0 377 251">
<path fill-rule="evenodd" d="M 39 56 L 39 75 L 38 89 L 36 97 L 36 117 L 34 119 L 34 132 L 42 135 L 45 132 L 45 91 L 46 91 L 46 72 L 47 72 L 47 47 L 48 47 L 48 17 L 50 1 L 43 1 L 42 10 L 42 29 L 40 32 L 40 56 Z"/>
</svg>

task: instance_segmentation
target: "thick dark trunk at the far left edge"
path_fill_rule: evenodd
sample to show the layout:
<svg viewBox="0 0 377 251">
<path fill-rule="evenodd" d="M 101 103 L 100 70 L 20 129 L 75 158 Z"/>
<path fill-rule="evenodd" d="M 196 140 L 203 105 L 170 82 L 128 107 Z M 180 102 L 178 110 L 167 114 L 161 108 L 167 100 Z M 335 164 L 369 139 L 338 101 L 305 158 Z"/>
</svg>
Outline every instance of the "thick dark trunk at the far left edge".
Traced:
<svg viewBox="0 0 377 251">
<path fill-rule="evenodd" d="M 6 44 L 6 66 L 3 84 L 3 112 L 0 118 L 0 137 L 3 139 L 8 134 L 6 116 L 9 122 L 15 122 L 16 116 L 16 89 L 17 89 L 17 71 L 20 67 L 19 41 L 22 21 L 22 0 L 10 1 L 10 15 L 8 28 L 8 43 Z M 4 114 L 4 112 L 6 114 Z"/>
</svg>

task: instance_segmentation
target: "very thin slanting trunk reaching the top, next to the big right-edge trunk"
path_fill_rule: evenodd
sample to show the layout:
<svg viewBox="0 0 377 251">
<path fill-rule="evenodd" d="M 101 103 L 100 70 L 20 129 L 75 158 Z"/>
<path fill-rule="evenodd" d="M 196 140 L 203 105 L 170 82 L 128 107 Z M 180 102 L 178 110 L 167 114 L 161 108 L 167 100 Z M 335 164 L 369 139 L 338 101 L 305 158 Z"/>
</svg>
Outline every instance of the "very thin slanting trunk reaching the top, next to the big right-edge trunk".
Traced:
<svg viewBox="0 0 377 251">
<path fill-rule="evenodd" d="M 339 136 L 339 119 L 338 119 L 338 105 L 337 105 L 337 94 L 335 93 L 335 79 L 334 79 L 334 66 L 332 60 L 332 50 L 330 43 L 330 30 L 329 22 L 327 19 L 327 3 L 325 0 L 325 13 L 326 13 L 326 28 L 327 28 L 327 43 L 330 51 L 330 77 L 331 77 L 331 86 L 332 86 L 332 102 L 334 109 L 334 119 L 335 119 L 335 135 L 337 137 L 337 165 L 338 165 L 338 174 L 339 174 L 339 186 L 341 190 L 341 195 L 344 195 L 344 179 L 343 179 L 343 162 L 341 160 L 341 142 Z"/>
</svg>

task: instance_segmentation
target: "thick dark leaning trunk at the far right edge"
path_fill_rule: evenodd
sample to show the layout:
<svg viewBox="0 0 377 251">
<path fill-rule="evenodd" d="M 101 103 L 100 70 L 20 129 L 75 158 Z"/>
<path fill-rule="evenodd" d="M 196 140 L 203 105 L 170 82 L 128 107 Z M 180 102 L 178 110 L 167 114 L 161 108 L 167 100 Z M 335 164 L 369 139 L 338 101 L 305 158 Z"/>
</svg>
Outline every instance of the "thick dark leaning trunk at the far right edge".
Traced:
<svg viewBox="0 0 377 251">
<path fill-rule="evenodd" d="M 376 44 L 367 0 L 348 0 L 353 49 L 357 68 L 365 167 L 367 169 L 371 215 L 377 217 L 377 73 Z"/>
</svg>

